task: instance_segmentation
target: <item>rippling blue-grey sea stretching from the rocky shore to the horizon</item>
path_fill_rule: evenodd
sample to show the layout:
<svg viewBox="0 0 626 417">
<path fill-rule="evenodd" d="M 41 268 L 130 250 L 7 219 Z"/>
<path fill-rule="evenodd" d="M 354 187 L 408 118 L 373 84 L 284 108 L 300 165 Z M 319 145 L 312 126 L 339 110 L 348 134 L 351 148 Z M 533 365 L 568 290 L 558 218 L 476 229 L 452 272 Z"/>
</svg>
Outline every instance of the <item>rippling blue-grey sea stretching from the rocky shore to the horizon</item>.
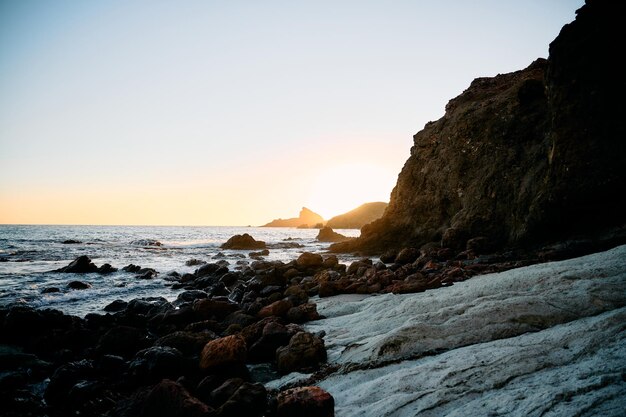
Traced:
<svg viewBox="0 0 626 417">
<path fill-rule="evenodd" d="M 337 232 L 346 236 L 360 233 L 356 229 Z M 219 247 L 231 236 L 243 233 L 267 243 L 270 253 L 264 259 L 270 261 L 288 262 L 305 251 L 323 253 L 329 246 L 315 239 L 316 229 L 0 225 L 0 306 L 19 303 L 82 317 L 102 313 L 103 307 L 118 299 L 159 296 L 171 301 L 182 290 L 168 286 L 172 283 L 168 273 L 193 272 L 198 265 L 187 266 L 191 259 L 226 260 L 230 269 L 252 262 L 249 250 Z M 87 255 L 97 266 L 109 263 L 119 270 L 107 275 L 52 272 L 81 255 Z M 340 256 L 344 263 L 353 259 Z M 121 270 L 129 264 L 154 268 L 159 274 L 151 280 L 138 279 L 136 274 Z M 91 288 L 68 289 L 67 284 L 74 280 L 88 282 Z M 60 291 L 43 293 L 51 287 Z"/>
</svg>

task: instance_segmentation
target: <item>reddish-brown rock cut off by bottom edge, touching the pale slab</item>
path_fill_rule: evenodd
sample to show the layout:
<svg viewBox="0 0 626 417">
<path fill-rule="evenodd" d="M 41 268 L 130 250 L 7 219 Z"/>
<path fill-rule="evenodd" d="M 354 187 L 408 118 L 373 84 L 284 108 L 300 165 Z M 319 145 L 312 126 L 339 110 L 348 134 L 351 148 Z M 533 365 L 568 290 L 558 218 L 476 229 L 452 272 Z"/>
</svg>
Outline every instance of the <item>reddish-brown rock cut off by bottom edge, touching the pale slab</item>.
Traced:
<svg viewBox="0 0 626 417">
<path fill-rule="evenodd" d="M 319 387 L 299 387 L 277 396 L 277 417 L 334 417 L 335 400 Z"/>
</svg>

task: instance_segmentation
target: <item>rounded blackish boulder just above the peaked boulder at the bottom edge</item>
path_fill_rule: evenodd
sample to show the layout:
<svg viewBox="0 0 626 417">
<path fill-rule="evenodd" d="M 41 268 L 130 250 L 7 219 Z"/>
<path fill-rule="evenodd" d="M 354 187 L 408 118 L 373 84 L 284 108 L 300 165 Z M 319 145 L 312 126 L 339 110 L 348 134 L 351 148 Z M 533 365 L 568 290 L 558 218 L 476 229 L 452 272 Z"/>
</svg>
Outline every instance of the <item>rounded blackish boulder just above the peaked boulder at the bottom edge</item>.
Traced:
<svg viewBox="0 0 626 417">
<path fill-rule="evenodd" d="M 182 353 L 170 346 L 152 346 L 140 350 L 129 366 L 129 371 L 139 381 L 158 381 L 163 378 L 175 379 L 185 372 Z"/>
</svg>

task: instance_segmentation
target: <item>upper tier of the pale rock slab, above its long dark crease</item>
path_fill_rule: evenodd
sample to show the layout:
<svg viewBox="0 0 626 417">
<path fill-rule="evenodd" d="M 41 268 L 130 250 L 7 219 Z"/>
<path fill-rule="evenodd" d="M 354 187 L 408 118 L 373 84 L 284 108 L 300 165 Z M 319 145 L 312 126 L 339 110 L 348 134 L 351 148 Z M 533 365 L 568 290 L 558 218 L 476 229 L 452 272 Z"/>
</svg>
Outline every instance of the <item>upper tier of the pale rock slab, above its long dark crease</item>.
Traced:
<svg viewBox="0 0 626 417">
<path fill-rule="evenodd" d="M 626 246 L 419 294 L 316 301 L 329 361 L 386 363 L 542 330 L 626 306 Z"/>
</svg>

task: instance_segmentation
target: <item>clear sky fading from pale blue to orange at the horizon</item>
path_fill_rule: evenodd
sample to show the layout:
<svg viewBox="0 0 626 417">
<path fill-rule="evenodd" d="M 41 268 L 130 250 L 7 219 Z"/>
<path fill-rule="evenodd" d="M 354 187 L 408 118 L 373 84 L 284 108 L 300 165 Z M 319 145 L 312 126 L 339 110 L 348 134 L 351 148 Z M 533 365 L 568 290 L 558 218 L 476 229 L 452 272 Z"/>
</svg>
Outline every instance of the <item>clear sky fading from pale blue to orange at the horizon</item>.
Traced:
<svg viewBox="0 0 626 417">
<path fill-rule="evenodd" d="M 259 225 L 389 201 L 412 136 L 582 0 L 0 0 L 0 223 Z"/>
</svg>

